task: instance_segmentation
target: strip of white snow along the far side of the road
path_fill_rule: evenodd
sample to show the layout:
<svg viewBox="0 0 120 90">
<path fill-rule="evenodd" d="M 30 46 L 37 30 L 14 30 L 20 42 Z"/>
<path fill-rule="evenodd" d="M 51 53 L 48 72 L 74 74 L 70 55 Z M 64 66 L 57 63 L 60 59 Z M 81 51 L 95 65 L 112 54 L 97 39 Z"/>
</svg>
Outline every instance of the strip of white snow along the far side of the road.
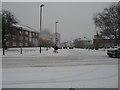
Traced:
<svg viewBox="0 0 120 90">
<path fill-rule="evenodd" d="M 79 55 L 78 53 L 76 53 L 75 51 L 78 51 L 79 53 L 84 53 L 87 54 L 87 55 L 106 55 L 106 51 L 107 50 L 104 50 L 104 49 L 100 49 L 100 50 L 88 50 L 88 49 L 59 49 L 59 53 L 56 54 L 54 53 L 54 49 L 53 48 L 49 48 L 48 51 L 46 51 L 46 48 L 42 48 L 42 53 L 40 54 L 39 52 L 39 47 L 32 47 L 32 48 L 22 48 L 23 50 L 23 54 L 20 54 L 20 48 L 9 48 L 8 50 L 6 50 L 6 55 L 3 56 L 3 57 L 24 57 L 24 56 L 68 56 L 68 55 Z M 72 51 L 72 53 L 71 53 Z M 88 51 L 90 53 L 88 53 Z M 2 49 L 0 49 L 0 52 L 2 52 Z"/>
</svg>

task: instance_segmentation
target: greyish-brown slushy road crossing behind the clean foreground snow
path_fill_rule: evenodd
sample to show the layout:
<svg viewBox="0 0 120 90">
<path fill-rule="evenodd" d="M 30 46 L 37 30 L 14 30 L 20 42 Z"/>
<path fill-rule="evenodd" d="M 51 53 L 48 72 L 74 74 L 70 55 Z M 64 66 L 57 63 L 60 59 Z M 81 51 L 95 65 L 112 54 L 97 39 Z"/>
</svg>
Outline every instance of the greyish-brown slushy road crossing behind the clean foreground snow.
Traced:
<svg viewBox="0 0 120 90">
<path fill-rule="evenodd" d="M 9 53 L 3 57 L 3 68 L 17 67 L 50 67 L 50 66 L 76 66 L 76 65 L 113 65 L 118 59 L 110 58 L 103 50 L 60 49 L 59 53 L 53 50 L 39 52 Z"/>
</svg>

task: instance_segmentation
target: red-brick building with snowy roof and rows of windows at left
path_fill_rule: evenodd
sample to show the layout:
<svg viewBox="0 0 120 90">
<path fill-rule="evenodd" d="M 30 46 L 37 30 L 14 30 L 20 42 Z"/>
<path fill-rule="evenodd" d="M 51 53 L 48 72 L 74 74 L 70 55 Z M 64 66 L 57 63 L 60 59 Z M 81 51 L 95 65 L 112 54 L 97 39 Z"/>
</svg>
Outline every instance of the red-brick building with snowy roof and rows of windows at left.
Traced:
<svg viewBox="0 0 120 90">
<path fill-rule="evenodd" d="M 33 47 L 39 45 L 39 32 L 23 25 L 13 25 L 11 33 L 6 36 L 6 46 L 12 47 Z"/>
</svg>

